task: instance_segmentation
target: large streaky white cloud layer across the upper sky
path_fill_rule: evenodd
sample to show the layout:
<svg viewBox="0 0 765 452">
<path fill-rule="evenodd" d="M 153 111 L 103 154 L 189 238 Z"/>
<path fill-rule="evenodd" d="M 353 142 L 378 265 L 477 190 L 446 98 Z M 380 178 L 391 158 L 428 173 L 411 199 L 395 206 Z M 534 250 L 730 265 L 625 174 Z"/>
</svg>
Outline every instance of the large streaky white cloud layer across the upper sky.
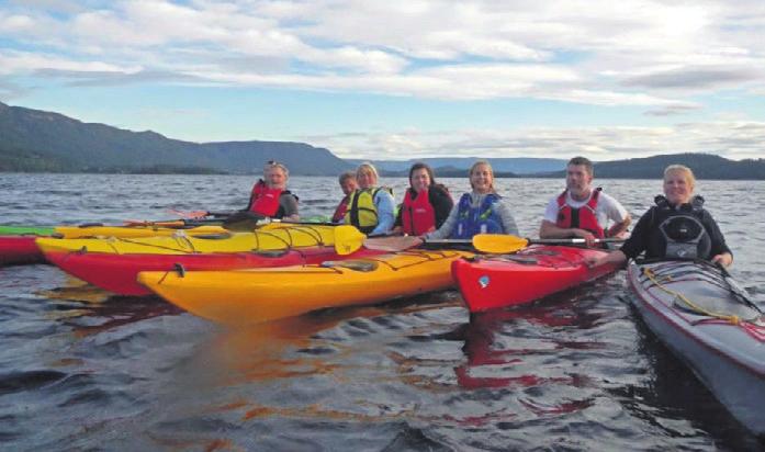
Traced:
<svg viewBox="0 0 765 452">
<path fill-rule="evenodd" d="M 0 71 L 140 68 L 236 86 L 448 100 L 526 97 L 640 105 L 653 115 L 699 109 L 690 97 L 765 84 L 758 36 L 765 12 L 754 0 L 99 4 L 0 7 L 0 38 L 13 45 L 4 54 L 55 55 L 47 67 Z"/>
</svg>

